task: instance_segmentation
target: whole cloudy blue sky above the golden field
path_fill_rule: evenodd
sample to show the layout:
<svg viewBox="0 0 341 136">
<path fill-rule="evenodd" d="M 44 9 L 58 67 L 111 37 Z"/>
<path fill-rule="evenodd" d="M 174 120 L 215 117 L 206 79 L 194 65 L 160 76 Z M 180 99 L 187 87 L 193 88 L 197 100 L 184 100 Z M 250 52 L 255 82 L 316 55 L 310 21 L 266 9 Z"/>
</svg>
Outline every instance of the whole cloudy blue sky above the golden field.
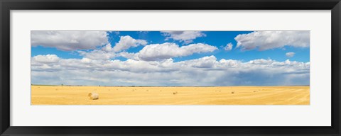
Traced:
<svg viewBox="0 0 341 136">
<path fill-rule="evenodd" d="M 31 32 L 32 84 L 309 85 L 309 53 L 309 31 Z"/>
</svg>

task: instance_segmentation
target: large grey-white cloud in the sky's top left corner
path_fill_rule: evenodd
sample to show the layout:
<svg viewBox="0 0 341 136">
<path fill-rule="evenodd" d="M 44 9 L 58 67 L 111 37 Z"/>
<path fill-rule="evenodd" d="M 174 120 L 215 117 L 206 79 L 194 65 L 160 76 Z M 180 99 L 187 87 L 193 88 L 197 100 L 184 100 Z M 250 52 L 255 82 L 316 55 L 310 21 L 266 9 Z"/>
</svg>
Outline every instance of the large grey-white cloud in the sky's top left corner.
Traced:
<svg viewBox="0 0 341 136">
<path fill-rule="evenodd" d="M 31 46 L 90 50 L 108 43 L 106 31 L 31 31 Z"/>
</svg>

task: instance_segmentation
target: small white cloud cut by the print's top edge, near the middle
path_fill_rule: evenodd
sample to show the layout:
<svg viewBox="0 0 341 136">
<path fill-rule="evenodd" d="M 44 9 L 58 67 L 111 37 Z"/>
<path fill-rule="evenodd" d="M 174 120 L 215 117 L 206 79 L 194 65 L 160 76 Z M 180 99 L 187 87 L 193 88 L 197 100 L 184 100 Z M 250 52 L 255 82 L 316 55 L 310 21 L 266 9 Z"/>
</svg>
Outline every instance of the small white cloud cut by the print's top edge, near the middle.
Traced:
<svg viewBox="0 0 341 136">
<path fill-rule="evenodd" d="M 195 38 L 205 37 L 205 33 L 200 31 L 161 31 L 165 40 L 173 39 L 179 40 L 180 42 L 185 42 L 186 44 L 193 42 Z"/>
</svg>

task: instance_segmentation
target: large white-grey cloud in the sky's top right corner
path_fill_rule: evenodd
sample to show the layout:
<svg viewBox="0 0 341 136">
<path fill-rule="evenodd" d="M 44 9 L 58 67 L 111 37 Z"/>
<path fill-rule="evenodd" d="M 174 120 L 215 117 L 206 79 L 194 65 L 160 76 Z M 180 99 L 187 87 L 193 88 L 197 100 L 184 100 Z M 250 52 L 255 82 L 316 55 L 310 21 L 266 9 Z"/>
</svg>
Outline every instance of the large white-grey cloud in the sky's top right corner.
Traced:
<svg viewBox="0 0 341 136">
<path fill-rule="evenodd" d="M 242 50 L 269 50 L 284 46 L 309 47 L 309 31 L 256 31 L 237 35 L 237 47 Z"/>
</svg>

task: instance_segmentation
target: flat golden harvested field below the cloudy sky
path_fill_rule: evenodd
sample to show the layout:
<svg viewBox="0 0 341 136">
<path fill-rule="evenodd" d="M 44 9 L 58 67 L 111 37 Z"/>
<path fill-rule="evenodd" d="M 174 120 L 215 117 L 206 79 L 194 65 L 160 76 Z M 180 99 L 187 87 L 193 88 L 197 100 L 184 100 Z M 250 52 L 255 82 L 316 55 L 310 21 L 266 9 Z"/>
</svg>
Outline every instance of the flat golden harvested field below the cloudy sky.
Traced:
<svg viewBox="0 0 341 136">
<path fill-rule="evenodd" d="M 91 100 L 89 93 L 99 94 Z M 309 105 L 309 86 L 31 86 L 32 105 Z"/>
</svg>

